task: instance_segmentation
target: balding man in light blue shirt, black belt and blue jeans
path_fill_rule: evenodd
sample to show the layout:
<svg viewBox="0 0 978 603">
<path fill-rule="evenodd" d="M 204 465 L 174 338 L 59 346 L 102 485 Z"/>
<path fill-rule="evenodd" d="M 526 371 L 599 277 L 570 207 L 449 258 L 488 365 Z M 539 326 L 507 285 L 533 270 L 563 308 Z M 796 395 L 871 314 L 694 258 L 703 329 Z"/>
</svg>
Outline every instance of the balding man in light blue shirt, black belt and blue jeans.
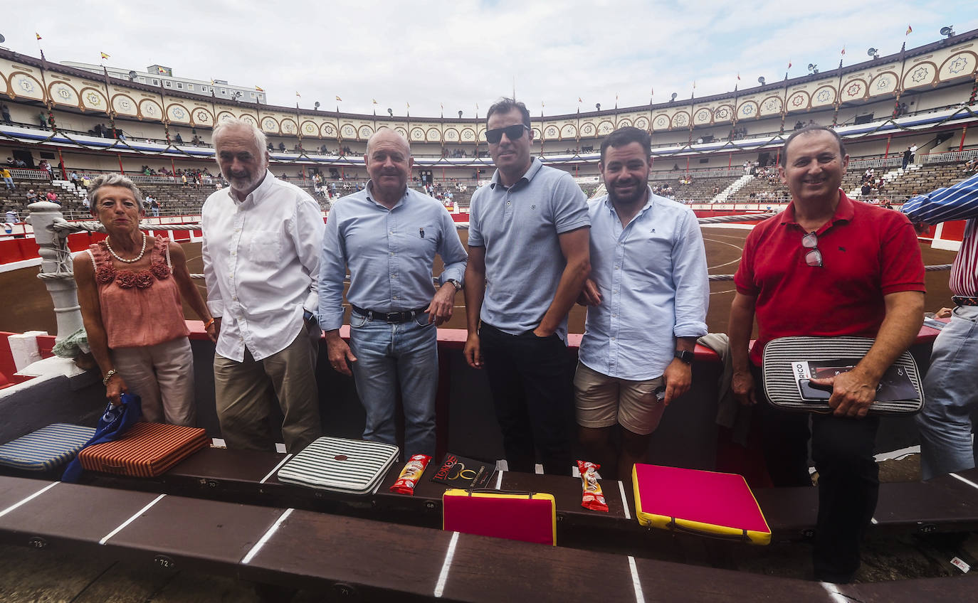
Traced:
<svg viewBox="0 0 978 603">
<path fill-rule="evenodd" d="M 466 248 L 445 207 L 408 188 L 414 158 L 403 136 L 380 130 L 367 143 L 364 161 L 371 178 L 367 187 L 337 200 L 327 219 L 319 319 L 330 364 L 356 382 L 367 412 L 364 439 L 395 444 L 400 385 L 406 457 L 433 456 L 436 325 L 452 317 Z M 437 291 L 431 277 L 435 253 L 445 263 Z M 349 346 L 339 337 L 347 268 Z"/>
</svg>

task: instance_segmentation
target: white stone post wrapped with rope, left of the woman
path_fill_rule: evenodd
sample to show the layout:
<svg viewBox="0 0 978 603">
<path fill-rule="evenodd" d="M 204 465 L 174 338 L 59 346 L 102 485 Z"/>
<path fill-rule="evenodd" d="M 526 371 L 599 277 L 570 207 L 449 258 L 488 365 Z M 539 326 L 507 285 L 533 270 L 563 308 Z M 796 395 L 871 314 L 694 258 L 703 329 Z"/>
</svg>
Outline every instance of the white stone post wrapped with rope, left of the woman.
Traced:
<svg viewBox="0 0 978 603">
<path fill-rule="evenodd" d="M 54 301 L 55 318 L 58 320 L 56 340 L 61 341 L 82 327 L 78 291 L 71 276 L 71 253 L 67 249 L 67 233 L 57 233 L 51 225 L 64 223 L 61 205 L 38 201 L 27 206 L 30 216 L 27 222 L 34 229 L 34 240 L 40 247 L 41 273 L 48 293 Z M 61 275 L 56 277 L 55 275 Z"/>
</svg>

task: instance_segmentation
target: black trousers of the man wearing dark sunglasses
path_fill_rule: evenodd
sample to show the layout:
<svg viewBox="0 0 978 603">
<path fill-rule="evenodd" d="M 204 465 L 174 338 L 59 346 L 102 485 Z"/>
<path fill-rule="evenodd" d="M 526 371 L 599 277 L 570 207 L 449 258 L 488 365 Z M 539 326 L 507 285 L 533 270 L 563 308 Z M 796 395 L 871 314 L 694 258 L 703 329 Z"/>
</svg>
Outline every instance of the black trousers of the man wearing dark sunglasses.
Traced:
<svg viewBox="0 0 978 603">
<path fill-rule="evenodd" d="M 567 346 L 556 334 L 511 335 L 486 323 L 479 342 L 511 471 L 533 473 L 539 451 L 545 473 L 570 475 L 573 373 Z"/>
</svg>

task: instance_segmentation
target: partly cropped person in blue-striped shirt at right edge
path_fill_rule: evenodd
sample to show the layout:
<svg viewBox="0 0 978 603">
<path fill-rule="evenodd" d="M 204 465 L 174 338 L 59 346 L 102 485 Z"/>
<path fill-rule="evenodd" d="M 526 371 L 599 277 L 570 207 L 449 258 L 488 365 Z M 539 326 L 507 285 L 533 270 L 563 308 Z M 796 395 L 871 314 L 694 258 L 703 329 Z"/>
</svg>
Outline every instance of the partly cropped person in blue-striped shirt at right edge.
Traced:
<svg viewBox="0 0 978 603">
<path fill-rule="evenodd" d="M 978 408 L 978 175 L 911 198 L 903 207 L 914 222 L 966 220 L 951 268 L 955 309 L 934 341 L 923 381 L 926 404 L 916 416 L 924 480 L 975 466 L 971 413 Z"/>
</svg>

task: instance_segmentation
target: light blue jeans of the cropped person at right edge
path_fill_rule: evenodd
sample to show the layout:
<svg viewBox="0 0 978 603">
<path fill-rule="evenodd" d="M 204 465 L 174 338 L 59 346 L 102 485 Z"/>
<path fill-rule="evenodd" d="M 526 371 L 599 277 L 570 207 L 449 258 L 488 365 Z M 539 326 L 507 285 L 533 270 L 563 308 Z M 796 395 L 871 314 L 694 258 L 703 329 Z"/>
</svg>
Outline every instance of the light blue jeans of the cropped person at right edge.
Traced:
<svg viewBox="0 0 978 603">
<path fill-rule="evenodd" d="M 975 466 L 971 412 L 978 408 L 978 306 L 958 306 L 934 341 L 923 380 L 920 430 L 923 479 Z"/>
</svg>

